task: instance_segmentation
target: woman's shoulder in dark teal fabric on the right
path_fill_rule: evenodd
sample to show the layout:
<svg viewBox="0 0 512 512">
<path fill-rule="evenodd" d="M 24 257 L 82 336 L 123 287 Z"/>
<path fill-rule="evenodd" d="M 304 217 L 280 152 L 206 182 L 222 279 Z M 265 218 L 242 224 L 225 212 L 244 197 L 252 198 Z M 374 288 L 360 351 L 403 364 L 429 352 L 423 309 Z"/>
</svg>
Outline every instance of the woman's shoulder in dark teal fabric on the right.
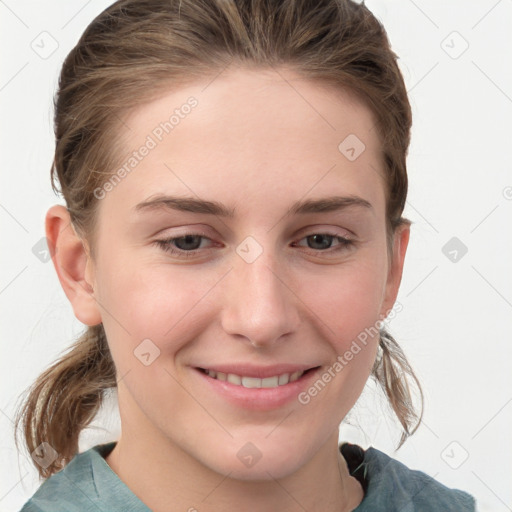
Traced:
<svg viewBox="0 0 512 512">
<path fill-rule="evenodd" d="M 364 451 L 361 464 L 367 490 L 361 505 L 368 510 L 401 510 L 401 512 L 475 512 L 475 499 L 465 491 L 450 489 L 422 471 L 370 447 Z M 361 508 L 364 512 L 367 507 Z M 356 509 L 359 512 L 359 508 Z"/>
</svg>

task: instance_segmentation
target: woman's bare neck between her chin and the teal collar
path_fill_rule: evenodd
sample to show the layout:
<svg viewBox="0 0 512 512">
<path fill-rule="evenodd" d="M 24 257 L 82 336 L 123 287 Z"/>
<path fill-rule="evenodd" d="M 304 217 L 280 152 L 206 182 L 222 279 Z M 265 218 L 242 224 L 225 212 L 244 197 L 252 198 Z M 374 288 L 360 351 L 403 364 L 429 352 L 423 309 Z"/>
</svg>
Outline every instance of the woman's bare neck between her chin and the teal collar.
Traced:
<svg viewBox="0 0 512 512">
<path fill-rule="evenodd" d="M 298 447 L 297 449 L 300 449 Z M 119 478 L 154 512 L 342 512 L 363 499 L 334 432 L 304 466 L 284 478 L 237 480 L 200 464 L 168 439 L 123 432 L 106 457 Z"/>
</svg>

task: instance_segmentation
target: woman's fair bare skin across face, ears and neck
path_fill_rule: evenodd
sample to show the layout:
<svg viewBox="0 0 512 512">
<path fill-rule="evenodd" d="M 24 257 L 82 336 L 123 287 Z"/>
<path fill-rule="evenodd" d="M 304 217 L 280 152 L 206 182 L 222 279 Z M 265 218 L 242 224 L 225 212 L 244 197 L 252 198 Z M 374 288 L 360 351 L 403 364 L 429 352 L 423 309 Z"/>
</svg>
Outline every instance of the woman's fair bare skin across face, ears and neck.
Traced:
<svg viewBox="0 0 512 512">
<path fill-rule="evenodd" d="M 103 322 L 117 369 L 122 435 L 107 463 L 155 511 L 353 510 L 363 491 L 338 453 L 338 428 L 370 375 L 376 337 L 307 405 L 235 407 L 192 367 L 325 371 L 392 308 L 409 227 L 397 229 L 389 260 L 372 113 L 285 69 L 233 68 L 210 82 L 163 91 L 125 117 L 131 152 L 188 97 L 198 100 L 99 202 L 95 259 L 64 207 L 47 214 L 62 287 L 81 322 Z M 355 161 L 338 150 L 349 134 L 366 146 Z M 219 201 L 235 215 L 134 211 L 157 193 Z M 285 215 L 295 201 L 333 195 L 372 207 Z M 155 244 L 197 229 L 207 238 L 193 257 Z M 325 232 L 331 249 L 308 238 Z M 263 249 L 252 263 L 236 252 L 247 236 Z M 160 350 L 149 366 L 133 353 L 144 339 Z M 252 467 L 237 457 L 247 442 L 262 455 Z"/>
</svg>

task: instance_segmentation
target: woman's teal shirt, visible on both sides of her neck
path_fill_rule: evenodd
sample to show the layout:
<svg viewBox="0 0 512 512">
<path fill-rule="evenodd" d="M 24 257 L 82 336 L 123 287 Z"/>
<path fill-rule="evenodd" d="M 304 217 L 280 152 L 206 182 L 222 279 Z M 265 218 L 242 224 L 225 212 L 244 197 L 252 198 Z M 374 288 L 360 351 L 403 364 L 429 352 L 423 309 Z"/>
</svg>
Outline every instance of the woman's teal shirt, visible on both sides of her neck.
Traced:
<svg viewBox="0 0 512 512">
<path fill-rule="evenodd" d="M 96 445 L 76 455 L 43 482 L 21 512 L 150 512 L 107 464 L 105 457 L 115 444 Z M 344 456 L 350 473 L 364 479 L 365 495 L 353 512 L 476 510 L 475 499 L 464 491 L 449 489 L 375 448 L 344 446 L 358 450 L 359 460 L 347 457 L 346 452 Z M 196 508 L 200 510 L 200 504 Z"/>
</svg>

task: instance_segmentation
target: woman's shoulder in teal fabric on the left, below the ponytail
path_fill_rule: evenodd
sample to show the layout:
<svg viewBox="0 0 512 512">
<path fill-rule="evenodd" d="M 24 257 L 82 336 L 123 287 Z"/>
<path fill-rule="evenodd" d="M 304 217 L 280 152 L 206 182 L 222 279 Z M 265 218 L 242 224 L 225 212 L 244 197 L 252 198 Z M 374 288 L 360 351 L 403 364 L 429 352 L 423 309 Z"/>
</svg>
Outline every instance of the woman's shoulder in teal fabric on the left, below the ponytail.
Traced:
<svg viewBox="0 0 512 512">
<path fill-rule="evenodd" d="M 97 512 L 100 499 L 93 474 L 98 445 L 75 455 L 69 464 L 45 480 L 20 512 Z"/>
</svg>

